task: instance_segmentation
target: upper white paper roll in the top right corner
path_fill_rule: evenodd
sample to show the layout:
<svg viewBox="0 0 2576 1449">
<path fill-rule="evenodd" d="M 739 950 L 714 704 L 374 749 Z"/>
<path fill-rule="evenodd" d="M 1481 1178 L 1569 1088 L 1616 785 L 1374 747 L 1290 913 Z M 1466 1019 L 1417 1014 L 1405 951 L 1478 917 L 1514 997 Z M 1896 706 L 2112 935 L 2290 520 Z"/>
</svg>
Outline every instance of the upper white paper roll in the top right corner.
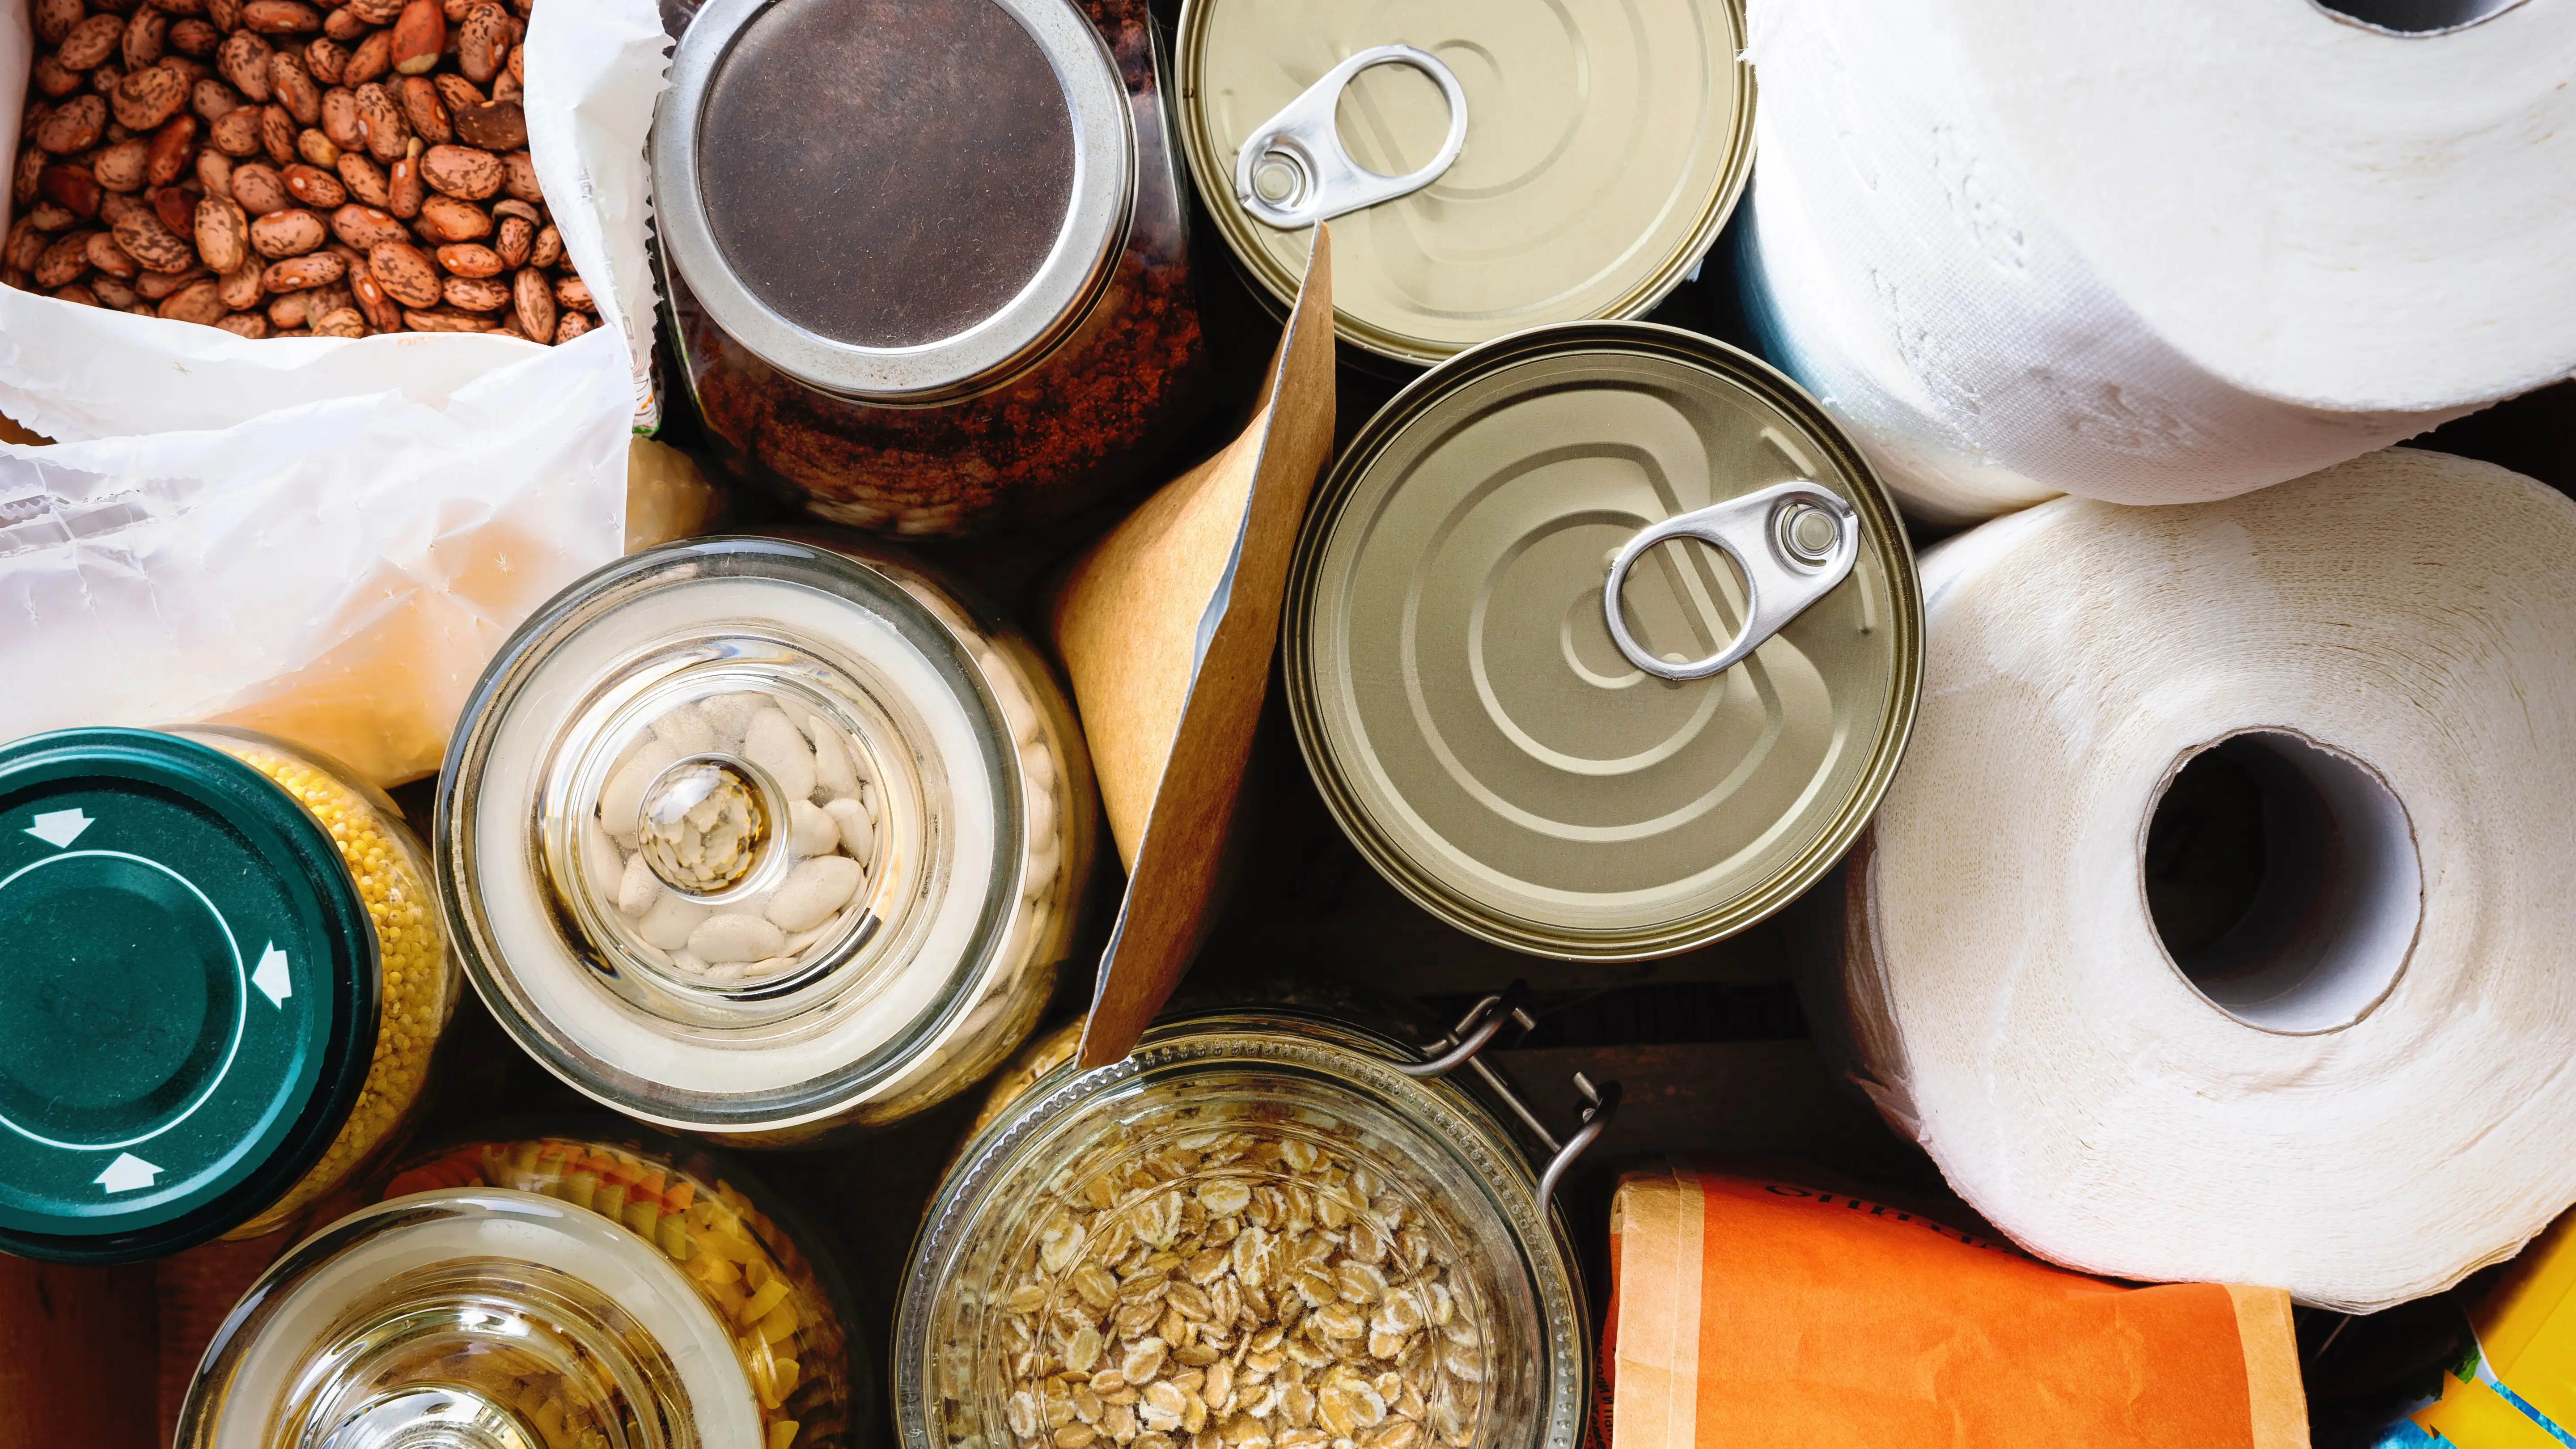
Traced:
<svg viewBox="0 0 2576 1449">
<path fill-rule="evenodd" d="M 1765 351 L 1940 521 L 2231 498 L 2568 376 L 2576 5 L 2419 8 L 2491 13 L 1752 0 Z"/>
</svg>

